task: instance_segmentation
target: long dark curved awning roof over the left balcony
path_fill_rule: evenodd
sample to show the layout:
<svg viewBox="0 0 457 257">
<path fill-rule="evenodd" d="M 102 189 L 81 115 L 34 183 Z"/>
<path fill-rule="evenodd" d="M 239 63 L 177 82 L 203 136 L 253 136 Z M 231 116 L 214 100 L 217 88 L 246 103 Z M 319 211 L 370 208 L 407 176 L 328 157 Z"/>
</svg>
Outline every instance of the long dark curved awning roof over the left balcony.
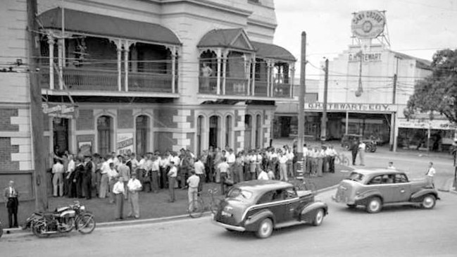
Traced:
<svg viewBox="0 0 457 257">
<path fill-rule="evenodd" d="M 64 11 L 65 31 L 68 32 L 81 32 L 163 44 L 181 44 L 175 33 L 162 25 L 86 13 L 68 8 L 65 8 Z M 62 9 L 60 7 L 45 11 L 38 18 L 45 29 L 62 29 Z"/>
</svg>

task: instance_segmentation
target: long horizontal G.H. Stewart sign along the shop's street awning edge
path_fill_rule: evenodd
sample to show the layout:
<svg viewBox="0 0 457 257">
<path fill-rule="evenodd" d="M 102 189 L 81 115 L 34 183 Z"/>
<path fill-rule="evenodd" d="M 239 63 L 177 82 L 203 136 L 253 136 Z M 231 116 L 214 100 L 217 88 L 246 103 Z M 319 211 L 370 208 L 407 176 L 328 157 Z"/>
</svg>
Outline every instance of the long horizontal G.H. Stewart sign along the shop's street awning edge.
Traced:
<svg viewBox="0 0 457 257">
<path fill-rule="evenodd" d="M 305 111 L 323 111 L 323 103 L 306 103 Z M 397 106 L 394 104 L 327 103 L 327 111 L 392 113 L 397 111 Z"/>
</svg>

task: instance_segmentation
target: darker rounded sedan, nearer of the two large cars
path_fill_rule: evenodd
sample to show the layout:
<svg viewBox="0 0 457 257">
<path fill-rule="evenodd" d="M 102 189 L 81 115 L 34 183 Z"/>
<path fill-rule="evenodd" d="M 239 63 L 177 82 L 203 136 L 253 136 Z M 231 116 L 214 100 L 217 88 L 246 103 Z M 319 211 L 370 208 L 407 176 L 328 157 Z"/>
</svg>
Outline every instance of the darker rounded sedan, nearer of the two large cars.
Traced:
<svg viewBox="0 0 457 257">
<path fill-rule="evenodd" d="M 273 229 L 309 223 L 322 224 L 327 204 L 314 200 L 311 191 L 296 190 L 278 180 L 251 180 L 235 184 L 213 216 L 216 225 L 228 231 L 256 232 L 269 237 Z"/>
</svg>

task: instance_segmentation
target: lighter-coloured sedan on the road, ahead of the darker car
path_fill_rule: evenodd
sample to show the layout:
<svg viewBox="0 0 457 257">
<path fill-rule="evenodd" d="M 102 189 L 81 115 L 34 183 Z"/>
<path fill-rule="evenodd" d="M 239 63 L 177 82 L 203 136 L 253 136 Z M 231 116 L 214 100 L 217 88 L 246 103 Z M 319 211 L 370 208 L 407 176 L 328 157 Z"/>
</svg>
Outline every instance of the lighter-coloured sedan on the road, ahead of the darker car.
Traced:
<svg viewBox="0 0 457 257">
<path fill-rule="evenodd" d="M 368 213 L 377 213 L 383 206 L 405 204 L 431 209 L 439 197 L 437 190 L 425 179 L 410 181 L 400 170 L 366 168 L 353 170 L 339 183 L 332 199 L 346 203 L 349 208 L 365 206 Z"/>
</svg>

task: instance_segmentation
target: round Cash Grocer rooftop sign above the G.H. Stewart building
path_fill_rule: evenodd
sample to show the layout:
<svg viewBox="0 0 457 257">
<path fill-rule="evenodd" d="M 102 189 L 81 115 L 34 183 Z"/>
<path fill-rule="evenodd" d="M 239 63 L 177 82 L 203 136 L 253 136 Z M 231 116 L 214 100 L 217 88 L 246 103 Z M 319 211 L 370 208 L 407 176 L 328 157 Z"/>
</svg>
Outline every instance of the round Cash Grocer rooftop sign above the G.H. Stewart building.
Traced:
<svg viewBox="0 0 457 257">
<path fill-rule="evenodd" d="M 373 39 L 384 31 L 386 17 L 380 11 L 359 11 L 353 13 L 351 30 L 359 39 Z"/>
</svg>

